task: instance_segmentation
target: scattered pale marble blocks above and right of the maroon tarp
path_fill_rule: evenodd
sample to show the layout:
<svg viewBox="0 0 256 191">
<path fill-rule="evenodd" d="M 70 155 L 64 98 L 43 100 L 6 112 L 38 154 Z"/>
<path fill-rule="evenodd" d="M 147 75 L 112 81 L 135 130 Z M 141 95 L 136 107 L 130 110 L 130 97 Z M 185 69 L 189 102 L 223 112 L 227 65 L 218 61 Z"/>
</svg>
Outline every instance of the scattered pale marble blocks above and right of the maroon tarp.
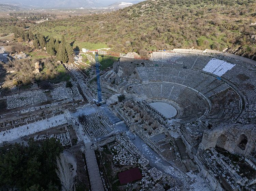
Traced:
<svg viewBox="0 0 256 191">
<path fill-rule="evenodd" d="M 169 174 L 147 166 L 148 160 L 144 158 L 125 134 L 117 134 L 115 140 L 117 143 L 110 147 L 114 164 L 121 166 L 139 166 L 143 177 L 138 182 L 141 191 L 145 189 L 163 191 L 165 190 L 162 187 L 163 182 L 171 187 L 171 191 L 184 190 L 182 184 L 178 184 Z M 133 183 L 128 183 L 126 186 L 132 188 Z"/>
</svg>

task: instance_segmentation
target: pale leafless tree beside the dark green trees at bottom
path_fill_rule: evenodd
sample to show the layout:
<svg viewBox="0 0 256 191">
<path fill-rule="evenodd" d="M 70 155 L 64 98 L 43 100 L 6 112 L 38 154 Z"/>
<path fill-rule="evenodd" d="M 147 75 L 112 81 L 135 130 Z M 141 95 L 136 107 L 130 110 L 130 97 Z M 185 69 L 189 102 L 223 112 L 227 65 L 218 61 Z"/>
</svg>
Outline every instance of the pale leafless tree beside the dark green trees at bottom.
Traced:
<svg viewBox="0 0 256 191">
<path fill-rule="evenodd" d="M 67 157 L 60 154 L 56 159 L 57 167 L 56 173 L 60 179 L 62 189 L 64 191 L 73 191 L 74 190 L 74 176 L 73 171 L 71 170 L 71 164 L 68 162 Z"/>
</svg>

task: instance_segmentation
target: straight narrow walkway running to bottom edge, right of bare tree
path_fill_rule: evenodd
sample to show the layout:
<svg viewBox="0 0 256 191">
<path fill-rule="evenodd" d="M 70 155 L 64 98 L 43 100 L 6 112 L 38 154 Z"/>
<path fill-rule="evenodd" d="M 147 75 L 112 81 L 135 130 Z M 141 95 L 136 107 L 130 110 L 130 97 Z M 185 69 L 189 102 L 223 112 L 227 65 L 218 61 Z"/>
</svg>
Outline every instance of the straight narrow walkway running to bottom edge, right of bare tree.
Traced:
<svg viewBox="0 0 256 191">
<path fill-rule="evenodd" d="M 100 171 L 97 164 L 96 156 L 94 150 L 91 149 L 91 145 L 93 143 L 85 143 L 85 159 L 87 164 L 87 169 L 89 173 L 90 183 L 91 183 L 91 190 L 92 191 L 103 191 L 104 187 L 102 184 L 102 180 L 100 177 Z"/>
</svg>

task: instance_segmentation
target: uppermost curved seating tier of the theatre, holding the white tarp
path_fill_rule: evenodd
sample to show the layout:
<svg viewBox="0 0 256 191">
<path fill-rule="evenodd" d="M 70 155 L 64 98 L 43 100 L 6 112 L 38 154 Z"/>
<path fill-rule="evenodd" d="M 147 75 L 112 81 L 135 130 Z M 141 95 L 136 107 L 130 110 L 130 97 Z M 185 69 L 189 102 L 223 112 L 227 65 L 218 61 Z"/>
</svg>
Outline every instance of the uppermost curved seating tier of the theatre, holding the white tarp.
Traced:
<svg viewBox="0 0 256 191">
<path fill-rule="evenodd" d="M 239 115 L 237 122 L 256 122 L 256 64 L 252 64 L 251 62 L 245 63 L 243 57 L 241 57 L 241 60 L 243 60 L 241 61 L 222 55 L 205 55 L 193 52 L 153 52 L 151 60 L 161 67 L 187 69 L 188 71 L 176 70 L 175 72 L 179 72 L 179 75 L 177 75 L 177 73 L 175 73 L 175 75 L 176 77 L 179 77 L 179 79 L 177 79 L 177 81 L 179 81 L 184 79 L 182 76 L 184 76 L 183 74 L 185 73 L 185 78 L 189 78 L 190 81 L 193 81 L 191 85 L 189 84 L 190 87 L 199 83 L 199 86 L 201 86 L 201 83 L 204 83 L 200 78 L 202 73 L 209 74 L 214 78 L 220 77 L 222 81 L 235 89 L 237 94 L 241 97 L 240 104 L 242 106 L 242 112 Z M 214 65 L 211 65 L 212 61 L 214 61 Z M 220 67 L 218 67 L 218 64 Z M 211 71 L 211 69 L 215 71 Z M 199 72 L 199 78 L 195 76 L 195 74 L 197 74 L 195 71 Z M 163 72 L 169 76 L 169 81 L 175 80 L 175 77 L 168 75 L 168 70 Z M 155 76 L 154 74 L 152 75 Z M 156 75 L 158 75 L 156 80 L 159 80 L 161 74 Z M 148 77 L 150 78 L 150 76 Z M 165 81 L 165 79 L 165 77 L 162 78 L 163 81 Z M 146 80 L 146 77 L 143 80 Z M 207 87 L 206 90 L 209 90 L 209 88 L 210 87 Z M 204 94 L 205 92 L 202 93 Z M 209 90 L 207 93 L 211 94 L 212 92 Z M 228 102 L 225 102 L 225 104 L 228 104 Z"/>
</svg>

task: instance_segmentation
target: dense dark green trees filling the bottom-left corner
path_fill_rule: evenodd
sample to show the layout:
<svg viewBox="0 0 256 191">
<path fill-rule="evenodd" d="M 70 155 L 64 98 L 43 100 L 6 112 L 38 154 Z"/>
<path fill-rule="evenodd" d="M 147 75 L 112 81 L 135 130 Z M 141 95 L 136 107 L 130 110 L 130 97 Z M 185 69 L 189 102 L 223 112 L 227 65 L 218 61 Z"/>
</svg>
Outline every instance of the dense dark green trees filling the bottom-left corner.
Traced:
<svg viewBox="0 0 256 191">
<path fill-rule="evenodd" d="M 62 151 L 54 138 L 0 147 L 0 190 L 59 190 L 55 169 Z"/>
</svg>

